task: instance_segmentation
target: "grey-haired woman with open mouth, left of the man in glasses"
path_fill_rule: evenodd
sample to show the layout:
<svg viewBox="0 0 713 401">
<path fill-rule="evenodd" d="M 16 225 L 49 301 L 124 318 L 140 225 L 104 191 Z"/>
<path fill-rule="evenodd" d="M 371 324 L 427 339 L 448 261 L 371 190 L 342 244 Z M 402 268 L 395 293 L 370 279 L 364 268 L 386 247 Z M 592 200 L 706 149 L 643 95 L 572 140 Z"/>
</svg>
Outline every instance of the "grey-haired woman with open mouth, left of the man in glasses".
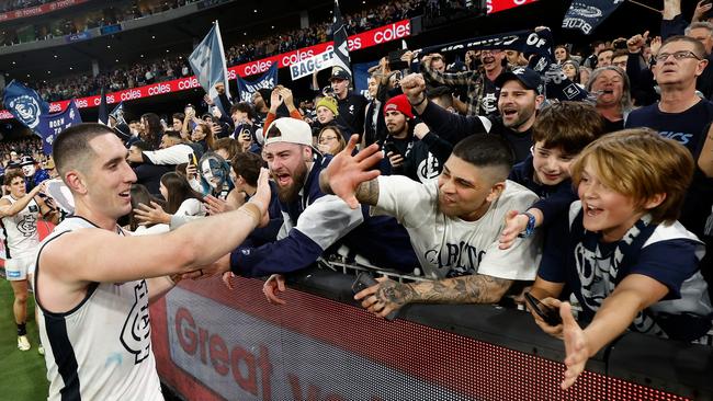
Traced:
<svg viewBox="0 0 713 401">
<path fill-rule="evenodd" d="M 587 91 L 597 96 L 597 111 L 604 118 L 604 131 L 624 128 L 632 110 L 631 85 L 626 72 L 619 67 L 597 68 L 589 77 Z"/>
</svg>

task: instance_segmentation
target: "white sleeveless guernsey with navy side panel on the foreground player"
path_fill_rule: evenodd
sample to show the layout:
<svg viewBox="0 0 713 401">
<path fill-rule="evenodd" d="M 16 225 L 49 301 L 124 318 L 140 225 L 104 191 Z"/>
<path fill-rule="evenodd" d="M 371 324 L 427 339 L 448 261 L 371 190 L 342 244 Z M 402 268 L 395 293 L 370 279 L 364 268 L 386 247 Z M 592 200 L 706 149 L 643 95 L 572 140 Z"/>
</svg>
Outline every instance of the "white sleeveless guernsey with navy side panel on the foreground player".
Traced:
<svg viewBox="0 0 713 401">
<path fill-rule="evenodd" d="M 146 280 L 92 283 L 84 299 L 67 312 L 55 313 L 36 299 L 39 255 L 56 238 L 78 229 L 97 228 L 70 217 L 41 244 L 35 275 L 38 326 L 45 346 L 47 400 L 163 400 L 151 352 Z M 117 232 L 123 234 L 117 227 Z"/>
</svg>

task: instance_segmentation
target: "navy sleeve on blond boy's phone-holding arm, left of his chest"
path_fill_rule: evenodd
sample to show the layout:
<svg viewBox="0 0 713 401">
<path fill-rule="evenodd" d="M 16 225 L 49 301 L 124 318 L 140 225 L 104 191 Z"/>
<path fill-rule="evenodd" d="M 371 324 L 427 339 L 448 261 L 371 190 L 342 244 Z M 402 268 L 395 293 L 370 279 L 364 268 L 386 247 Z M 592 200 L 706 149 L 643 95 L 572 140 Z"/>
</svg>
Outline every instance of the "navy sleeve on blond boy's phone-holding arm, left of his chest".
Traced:
<svg viewBox="0 0 713 401">
<path fill-rule="evenodd" d="M 537 276 L 552 283 L 567 283 L 567 252 L 569 249 L 569 216 L 558 216 L 545 231 L 545 244 Z"/>
</svg>

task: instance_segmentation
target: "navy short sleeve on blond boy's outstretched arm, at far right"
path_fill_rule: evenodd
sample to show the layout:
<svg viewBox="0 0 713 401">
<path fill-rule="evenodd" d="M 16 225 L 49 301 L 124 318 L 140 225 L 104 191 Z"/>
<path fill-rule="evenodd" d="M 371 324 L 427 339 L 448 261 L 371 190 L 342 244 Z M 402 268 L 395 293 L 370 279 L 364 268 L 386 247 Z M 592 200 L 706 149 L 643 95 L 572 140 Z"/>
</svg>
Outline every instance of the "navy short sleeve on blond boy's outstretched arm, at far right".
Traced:
<svg viewBox="0 0 713 401">
<path fill-rule="evenodd" d="M 681 297 L 681 285 L 698 271 L 695 249 L 700 247 L 688 239 L 655 242 L 642 249 L 630 274 L 643 274 L 668 287 L 665 299 Z"/>
</svg>

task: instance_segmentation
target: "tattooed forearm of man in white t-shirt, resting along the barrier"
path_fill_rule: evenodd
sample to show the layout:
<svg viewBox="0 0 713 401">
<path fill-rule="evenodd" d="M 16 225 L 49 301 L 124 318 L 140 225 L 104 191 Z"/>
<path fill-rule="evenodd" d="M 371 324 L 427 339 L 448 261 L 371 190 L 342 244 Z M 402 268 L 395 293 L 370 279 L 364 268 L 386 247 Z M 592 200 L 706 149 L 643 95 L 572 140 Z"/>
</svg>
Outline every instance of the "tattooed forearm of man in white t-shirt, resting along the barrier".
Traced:
<svg viewBox="0 0 713 401">
<path fill-rule="evenodd" d="M 493 303 L 510 288 L 511 279 L 473 274 L 433 282 L 411 284 L 415 302 L 428 303 Z"/>
</svg>

